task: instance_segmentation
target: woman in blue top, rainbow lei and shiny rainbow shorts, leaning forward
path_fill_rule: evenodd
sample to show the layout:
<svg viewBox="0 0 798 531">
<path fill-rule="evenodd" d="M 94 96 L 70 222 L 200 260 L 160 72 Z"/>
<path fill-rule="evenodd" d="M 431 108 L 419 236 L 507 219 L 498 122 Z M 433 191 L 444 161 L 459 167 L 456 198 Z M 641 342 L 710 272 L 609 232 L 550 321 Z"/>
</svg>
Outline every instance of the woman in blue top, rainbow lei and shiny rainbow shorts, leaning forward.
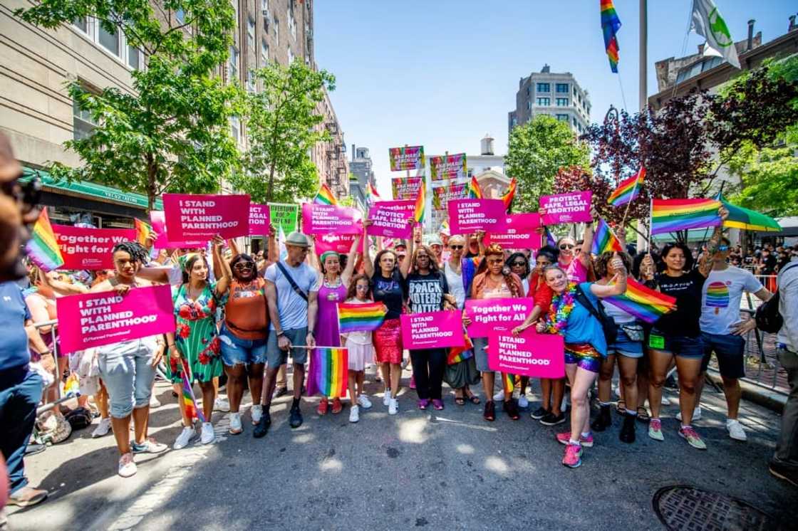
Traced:
<svg viewBox="0 0 798 531">
<path fill-rule="evenodd" d="M 599 307 L 600 298 L 625 293 L 626 269 L 617 255 L 612 259 L 612 266 L 618 273 L 608 285 L 575 284 L 568 281 L 565 269 L 560 266 L 543 269 L 554 297 L 546 317 L 536 328 L 540 333 L 559 333 L 565 337 L 565 373 L 571 384 L 571 431 L 558 434 L 557 440 L 566 445 L 563 465 L 571 468 L 582 464 L 582 446 L 593 446 L 587 391 L 599 376 L 602 358 L 606 356 L 602 324 L 579 301 L 579 292 L 594 309 Z"/>
</svg>

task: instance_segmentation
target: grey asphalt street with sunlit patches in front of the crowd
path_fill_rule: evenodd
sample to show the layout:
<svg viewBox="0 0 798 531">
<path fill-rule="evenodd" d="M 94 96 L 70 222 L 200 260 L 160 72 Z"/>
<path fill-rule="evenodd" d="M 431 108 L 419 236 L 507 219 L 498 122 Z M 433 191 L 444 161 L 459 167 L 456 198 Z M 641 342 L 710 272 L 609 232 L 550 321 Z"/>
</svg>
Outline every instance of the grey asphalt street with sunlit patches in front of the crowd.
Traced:
<svg viewBox="0 0 798 531">
<path fill-rule="evenodd" d="M 571 470 L 560 464 L 554 437 L 567 424 L 543 427 L 528 411 L 516 422 L 500 414 L 488 423 L 481 405 L 456 406 L 448 387 L 444 411 L 417 410 L 405 389 L 399 415 L 390 416 L 380 384 L 367 378 L 374 406 L 358 424 L 348 422 L 348 407 L 319 417 L 318 399 L 303 399 L 305 423 L 291 430 L 290 398 L 282 397 L 267 437 L 253 439 L 248 414 L 244 433 L 227 435 L 226 415 L 215 413 L 215 443 L 137 456 L 138 474 L 128 479 L 116 474 L 113 435 L 77 431 L 26 460 L 32 485 L 49 499 L 12 509 L 11 529 L 663 529 L 652 497 L 682 484 L 741 498 L 783 521 L 795 515 L 798 490 L 767 470 L 778 415 L 744 403 L 749 440 L 733 441 L 722 395 L 711 387 L 694 423 L 708 450 L 678 437 L 669 390 L 664 442 L 638 423 L 637 443 L 620 443 L 613 414 L 613 427 L 595 435 L 583 466 Z M 176 399 L 166 384 L 156 392 L 164 405 L 152 411 L 150 433 L 171 448 L 180 431 Z"/>
</svg>

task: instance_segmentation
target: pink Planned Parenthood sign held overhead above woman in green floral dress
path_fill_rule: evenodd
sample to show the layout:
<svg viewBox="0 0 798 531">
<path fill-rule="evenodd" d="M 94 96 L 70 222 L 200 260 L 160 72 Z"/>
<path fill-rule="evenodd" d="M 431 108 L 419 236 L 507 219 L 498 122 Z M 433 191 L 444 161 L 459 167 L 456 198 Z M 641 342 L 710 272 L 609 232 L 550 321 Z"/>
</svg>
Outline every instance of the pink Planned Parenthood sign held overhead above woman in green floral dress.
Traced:
<svg viewBox="0 0 798 531">
<path fill-rule="evenodd" d="M 164 194 L 170 241 L 249 235 L 249 195 Z"/>
</svg>

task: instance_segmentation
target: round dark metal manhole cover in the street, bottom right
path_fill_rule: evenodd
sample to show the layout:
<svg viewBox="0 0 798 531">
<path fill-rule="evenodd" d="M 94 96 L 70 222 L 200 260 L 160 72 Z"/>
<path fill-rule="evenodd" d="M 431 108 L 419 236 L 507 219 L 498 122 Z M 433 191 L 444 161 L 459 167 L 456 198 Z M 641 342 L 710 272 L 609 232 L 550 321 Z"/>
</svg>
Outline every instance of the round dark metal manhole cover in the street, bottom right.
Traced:
<svg viewBox="0 0 798 531">
<path fill-rule="evenodd" d="M 664 487 L 654 494 L 654 512 L 667 529 L 781 529 L 768 513 L 749 503 L 687 485 Z"/>
</svg>

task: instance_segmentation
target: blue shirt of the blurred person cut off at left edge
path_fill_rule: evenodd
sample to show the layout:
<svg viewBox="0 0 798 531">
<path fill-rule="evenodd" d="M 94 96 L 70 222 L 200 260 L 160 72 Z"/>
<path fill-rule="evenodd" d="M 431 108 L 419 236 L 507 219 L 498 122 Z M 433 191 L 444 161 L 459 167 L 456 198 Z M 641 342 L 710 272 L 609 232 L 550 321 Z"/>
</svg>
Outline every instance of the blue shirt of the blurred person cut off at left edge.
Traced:
<svg viewBox="0 0 798 531">
<path fill-rule="evenodd" d="M 30 363 L 28 334 L 25 332 L 25 321 L 29 319 L 30 310 L 19 285 L 13 281 L 0 283 L 0 371 Z"/>
</svg>

